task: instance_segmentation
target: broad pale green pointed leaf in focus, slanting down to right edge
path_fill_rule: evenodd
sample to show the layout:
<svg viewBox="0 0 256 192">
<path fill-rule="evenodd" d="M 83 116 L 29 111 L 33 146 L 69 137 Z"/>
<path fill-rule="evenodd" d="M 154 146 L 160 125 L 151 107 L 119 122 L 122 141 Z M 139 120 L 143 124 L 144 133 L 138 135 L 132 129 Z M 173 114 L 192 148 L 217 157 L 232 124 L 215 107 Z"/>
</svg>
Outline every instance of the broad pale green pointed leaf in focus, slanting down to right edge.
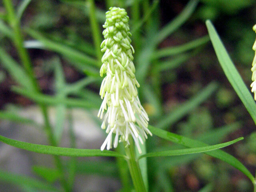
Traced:
<svg viewBox="0 0 256 192">
<path fill-rule="evenodd" d="M 246 85 L 244 84 L 240 74 L 236 70 L 234 63 L 230 59 L 228 52 L 226 51 L 220 37 L 218 36 L 214 26 L 210 22 L 210 20 L 206 21 L 206 26 L 210 35 L 210 39 L 212 41 L 212 45 L 220 62 L 222 69 L 228 81 L 238 94 L 240 100 L 243 102 L 245 108 L 251 115 L 254 123 L 256 124 L 256 104 L 252 98 L 252 95 Z"/>
</svg>

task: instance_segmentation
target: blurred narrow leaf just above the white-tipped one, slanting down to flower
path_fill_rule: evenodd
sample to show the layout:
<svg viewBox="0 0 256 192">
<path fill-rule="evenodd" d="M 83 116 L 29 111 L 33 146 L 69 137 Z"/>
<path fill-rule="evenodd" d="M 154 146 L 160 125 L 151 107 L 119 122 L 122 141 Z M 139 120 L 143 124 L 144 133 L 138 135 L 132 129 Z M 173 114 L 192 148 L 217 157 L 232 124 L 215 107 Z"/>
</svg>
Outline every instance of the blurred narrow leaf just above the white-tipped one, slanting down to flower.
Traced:
<svg viewBox="0 0 256 192">
<path fill-rule="evenodd" d="M 80 62 L 82 64 L 86 65 L 92 65 L 98 67 L 98 62 L 94 58 L 87 56 L 86 54 L 79 52 L 77 50 L 74 50 L 73 48 L 70 48 L 69 46 L 60 44 L 60 42 L 56 43 L 46 37 L 44 37 L 40 32 L 37 32 L 36 30 L 32 29 L 26 29 L 26 32 L 33 38 L 39 40 L 44 44 L 45 48 L 48 50 L 55 51 L 59 54 L 62 54 L 62 56 L 75 61 Z"/>
</svg>

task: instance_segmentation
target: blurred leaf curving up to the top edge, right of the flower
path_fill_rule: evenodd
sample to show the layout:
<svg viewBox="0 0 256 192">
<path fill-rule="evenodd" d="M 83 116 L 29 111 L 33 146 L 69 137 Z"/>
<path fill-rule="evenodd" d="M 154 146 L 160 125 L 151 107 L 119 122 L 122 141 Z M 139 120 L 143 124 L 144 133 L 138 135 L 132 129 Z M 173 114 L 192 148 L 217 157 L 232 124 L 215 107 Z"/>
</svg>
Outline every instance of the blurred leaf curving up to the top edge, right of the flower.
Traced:
<svg viewBox="0 0 256 192">
<path fill-rule="evenodd" d="M 155 44 L 159 44 L 162 42 L 162 40 L 172 34 L 180 26 L 182 26 L 182 24 L 184 24 L 184 22 L 186 22 L 186 20 L 188 20 L 188 18 L 194 12 L 197 4 L 198 0 L 190 0 L 182 12 L 170 23 L 166 24 L 166 26 L 164 26 L 160 32 L 158 32 L 156 38 L 154 39 Z"/>
</svg>

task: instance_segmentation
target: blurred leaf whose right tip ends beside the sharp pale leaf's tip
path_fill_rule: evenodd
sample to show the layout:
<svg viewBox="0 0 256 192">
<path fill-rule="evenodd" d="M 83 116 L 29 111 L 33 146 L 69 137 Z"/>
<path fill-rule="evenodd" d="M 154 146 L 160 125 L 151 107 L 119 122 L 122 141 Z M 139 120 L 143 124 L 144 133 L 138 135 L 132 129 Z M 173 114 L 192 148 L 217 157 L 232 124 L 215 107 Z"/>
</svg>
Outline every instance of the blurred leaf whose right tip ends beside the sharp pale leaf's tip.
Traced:
<svg viewBox="0 0 256 192">
<path fill-rule="evenodd" d="M 204 37 L 198 38 L 196 40 L 193 40 L 191 42 L 175 46 L 175 47 L 168 47 L 168 48 L 162 48 L 160 50 L 157 50 L 154 52 L 152 55 L 151 59 L 159 59 L 162 57 L 167 57 L 167 56 L 173 56 L 176 54 L 180 54 L 183 52 L 186 52 L 188 50 L 194 49 L 200 45 L 203 45 L 207 43 L 210 40 L 209 36 L 206 35 Z"/>
</svg>

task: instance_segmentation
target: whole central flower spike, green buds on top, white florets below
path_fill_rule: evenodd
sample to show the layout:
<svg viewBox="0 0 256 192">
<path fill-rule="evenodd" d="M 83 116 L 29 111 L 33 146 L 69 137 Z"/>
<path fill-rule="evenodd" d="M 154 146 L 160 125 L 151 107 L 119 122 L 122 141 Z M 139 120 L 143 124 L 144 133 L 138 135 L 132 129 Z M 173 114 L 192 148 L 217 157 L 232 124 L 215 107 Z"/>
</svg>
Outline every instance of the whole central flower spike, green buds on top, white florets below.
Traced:
<svg viewBox="0 0 256 192">
<path fill-rule="evenodd" d="M 101 128 L 106 128 L 108 136 L 101 146 L 101 150 L 107 146 L 112 148 L 112 134 L 114 148 L 118 142 L 129 144 L 128 137 L 132 136 L 141 153 L 140 144 L 143 144 L 148 130 L 148 115 L 138 98 L 137 87 L 140 87 L 135 78 L 135 68 L 132 62 L 134 49 L 131 43 L 131 33 L 128 25 L 129 17 L 124 9 L 110 8 L 106 12 L 106 22 L 103 25 L 105 40 L 101 44 L 102 67 L 100 76 L 106 73 L 100 87 L 100 96 L 103 99 L 98 117 L 103 118 Z"/>
</svg>

